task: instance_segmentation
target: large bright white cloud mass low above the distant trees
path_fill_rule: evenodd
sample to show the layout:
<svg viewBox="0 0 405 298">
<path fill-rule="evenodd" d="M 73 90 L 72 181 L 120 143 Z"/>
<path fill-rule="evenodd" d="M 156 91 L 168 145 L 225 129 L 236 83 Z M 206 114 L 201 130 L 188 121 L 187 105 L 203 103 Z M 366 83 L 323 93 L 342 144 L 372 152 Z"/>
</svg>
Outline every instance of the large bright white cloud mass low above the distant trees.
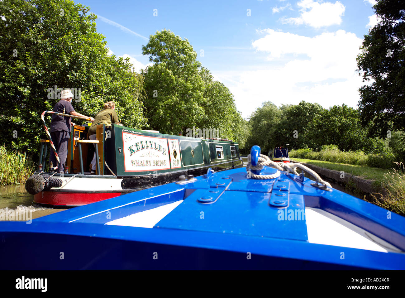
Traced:
<svg viewBox="0 0 405 298">
<path fill-rule="evenodd" d="M 298 104 L 305 100 L 325 108 L 345 103 L 356 107 L 362 78 L 356 73 L 356 56 L 362 39 L 355 34 L 338 30 L 312 38 L 263 30 L 266 36 L 252 43 L 257 51 L 269 53 L 272 60 L 267 69 L 258 66 L 252 71 L 215 72 L 235 96 L 243 117 L 263 101 Z M 305 55 L 306 58 L 294 57 Z M 285 61 L 279 64 L 280 61 Z"/>
</svg>

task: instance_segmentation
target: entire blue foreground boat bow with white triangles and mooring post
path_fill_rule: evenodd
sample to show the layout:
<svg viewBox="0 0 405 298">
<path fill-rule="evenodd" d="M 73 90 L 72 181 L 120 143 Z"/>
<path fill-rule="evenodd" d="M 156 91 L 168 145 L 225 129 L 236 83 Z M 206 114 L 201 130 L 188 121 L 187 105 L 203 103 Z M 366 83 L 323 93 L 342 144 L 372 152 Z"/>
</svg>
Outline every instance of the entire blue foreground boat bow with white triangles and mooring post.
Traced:
<svg viewBox="0 0 405 298">
<path fill-rule="evenodd" d="M 269 165 L 0 222 L 0 268 L 405 269 L 404 217 Z"/>
</svg>

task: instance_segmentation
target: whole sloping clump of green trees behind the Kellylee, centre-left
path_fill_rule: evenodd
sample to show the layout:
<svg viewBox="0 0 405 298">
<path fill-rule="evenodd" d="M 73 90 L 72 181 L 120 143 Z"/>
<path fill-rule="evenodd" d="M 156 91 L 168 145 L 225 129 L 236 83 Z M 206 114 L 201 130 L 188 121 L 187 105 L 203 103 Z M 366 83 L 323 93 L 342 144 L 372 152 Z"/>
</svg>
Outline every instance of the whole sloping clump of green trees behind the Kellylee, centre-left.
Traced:
<svg viewBox="0 0 405 298">
<path fill-rule="evenodd" d="M 220 137 L 245 143 L 246 123 L 233 95 L 196 60 L 187 39 L 170 30 L 157 31 L 142 47 L 154 62 L 145 76 L 145 115 L 149 128 L 177 134 L 186 129 L 219 129 Z"/>
</svg>

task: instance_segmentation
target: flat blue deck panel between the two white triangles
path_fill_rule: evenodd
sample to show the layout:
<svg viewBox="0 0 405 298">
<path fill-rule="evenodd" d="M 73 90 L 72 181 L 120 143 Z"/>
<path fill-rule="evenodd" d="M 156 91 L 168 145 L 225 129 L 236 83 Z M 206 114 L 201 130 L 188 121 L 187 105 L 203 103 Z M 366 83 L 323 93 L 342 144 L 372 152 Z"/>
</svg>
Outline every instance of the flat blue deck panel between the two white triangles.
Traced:
<svg viewBox="0 0 405 298">
<path fill-rule="evenodd" d="M 197 189 L 154 228 L 308 240 L 305 217 L 288 217 L 305 210 L 302 195 L 291 194 L 288 208 L 269 208 L 270 193 L 217 190 L 209 193 L 217 198 L 215 203 L 201 204 L 199 199 L 208 194 L 205 189 Z"/>
</svg>

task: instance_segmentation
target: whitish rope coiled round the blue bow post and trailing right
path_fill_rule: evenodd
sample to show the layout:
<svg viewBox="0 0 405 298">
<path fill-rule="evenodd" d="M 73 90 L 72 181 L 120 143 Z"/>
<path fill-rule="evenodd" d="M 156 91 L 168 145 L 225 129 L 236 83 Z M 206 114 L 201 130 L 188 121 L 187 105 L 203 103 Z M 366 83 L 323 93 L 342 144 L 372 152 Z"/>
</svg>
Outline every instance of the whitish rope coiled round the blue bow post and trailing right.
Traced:
<svg viewBox="0 0 405 298">
<path fill-rule="evenodd" d="M 250 170 L 261 170 L 263 169 L 264 166 L 270 166 L 276 168 L 278 171 L 275 172 L 274 174 L 271 175 L 256 175 L 250 172 Z M 250 172 L 250 178 L 253 179 L 274 179 L 280 176 L 281 172 L 290 172 L 293 173 L 297 176 L 299 176 L 296 168 L 301 169 L 302 171 L 307 172 L 313 178 L 315 179 L 316 182 L 323 184 L 326 187 L 331 187 L 329 182 L 324 181 L 315 171 L 310 169 L 309 167 L 306 167 L 305 165 L 301 165 L 301 163 L 276 163 L 272 161 L 268 156 L 260 154 L 258 158 L 257 165 L 252 165 L 252 160 L 250 157 L 250 154 L 247 156 L 247 165 L 246 165 L 246 172 Z"/>
</svg>

